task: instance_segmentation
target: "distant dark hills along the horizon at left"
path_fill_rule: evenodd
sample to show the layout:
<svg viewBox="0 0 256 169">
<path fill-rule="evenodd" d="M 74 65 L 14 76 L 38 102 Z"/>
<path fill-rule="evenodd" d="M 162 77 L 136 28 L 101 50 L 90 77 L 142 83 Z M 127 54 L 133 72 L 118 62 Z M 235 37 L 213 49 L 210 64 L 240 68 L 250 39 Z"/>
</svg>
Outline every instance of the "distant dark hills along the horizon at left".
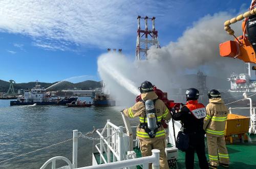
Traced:
<svg viewBox="0 0 256 169">
<path fill-rule="evenodd" d="M 14 90 L 17 92 L 19 89 L 32 89 L 35 87 L 36 82 L 27 82 L 27 83 L 15 83 Z M 102 87 L 101 81 L 93 81 L 93 80 L 86 80 L 78 83 L 72 83 L 69 81 L 61 81 L 61 82 L 53 82 L 53 83 L 46 83 L 46 82 L 38 82 L 44 88 L 48 88 L 54 84 L 53 87 L 49 89 L 49 91 L 59 91 L 65 89 L 82 89 L 82 90 L 89 90 L 94 88 Z M 8 81 L 0 80 L 0 92 L 7 92 L 9 89 L 10 83 Z"/>
</svg>

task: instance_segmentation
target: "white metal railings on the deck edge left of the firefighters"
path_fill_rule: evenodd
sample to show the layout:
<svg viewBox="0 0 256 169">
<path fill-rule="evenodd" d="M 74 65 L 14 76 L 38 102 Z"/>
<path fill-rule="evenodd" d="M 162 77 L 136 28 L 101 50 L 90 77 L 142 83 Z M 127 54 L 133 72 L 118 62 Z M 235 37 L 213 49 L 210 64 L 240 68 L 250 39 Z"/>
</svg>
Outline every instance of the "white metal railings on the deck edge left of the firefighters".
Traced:
<svg viewBox="0 0 256 169">
<path fill-rule="evenodd" d="M 131 127 L 131 126 L 130 126 Z M 131 128 L 135 128 L 136 126 L 132 126 Z M 103 162 L 103 164 L 99 165 L 93 165 L 93 166 L 87 166 L 87 167 L 81 167 L 82 168 L 124 168 L 124 167 L 131 167 L 143 164 L 143 168 L 148 169 L 149 163 L 153 163 L 153 168 L 158 169 L 159 168 L 159 150 L 152 150 L 153 155 L 147 156 L 147 157 L 141 157 L 141 158 L 134 158 L 134 159 L 126 159 L 126 151 L 124 149 L 124 146 L 130 146 L 125 145 L 123 136 L 125 135 L 126 141 L 129 142 L 128 136 L 126 134 L 123 134 L 123 127 L 119 126 L 117 127 L 113 123 L 110 122 L 110 120 L 107 121 L 105 124 L 105 127 L 100 132 L 99 129 L 96 130 L 96 133 L 99 135 L 100 143 L 95 145 L 97 151 L 100 154 L 100 163 Z M 105 136 L 106 135 L 106 136 Z M 95 138 L 96 139 L 96 138 Z M 131 139 L 130 139 L 131 140 Z M 136 146 L 138 145 L 137 139 L 132 138 L 132 142 L 136 142 Z M 51 168 L 56 168 L 56 160 L 63 160 L 68 163 L 68 165 L 63 166 L 61 168 L 67 168 L 67 169 L 74 169 L 77 168 L 77 147 L 78 147 L 78 130 L 73 130 L 73 163 L 66 158 L 62 156 L 56 156 L 48 161 L 46 161 L 40 169 L 46 168 L 51 163 Z M 104 156 L 106 155 L 106 158 Z M 111 161 L 111 154 L 113 154 L 113 161 Z"/>
</svg>

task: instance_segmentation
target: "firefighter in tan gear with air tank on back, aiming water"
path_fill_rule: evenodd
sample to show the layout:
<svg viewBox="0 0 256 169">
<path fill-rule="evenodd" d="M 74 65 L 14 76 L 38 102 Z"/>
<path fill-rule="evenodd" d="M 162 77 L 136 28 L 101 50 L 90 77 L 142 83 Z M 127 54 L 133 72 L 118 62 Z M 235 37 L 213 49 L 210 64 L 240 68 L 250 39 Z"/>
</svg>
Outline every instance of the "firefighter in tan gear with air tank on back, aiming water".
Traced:
<svg viewBox="0 0 256 169">
<path fill-rule="evenodd" d="M 143 157 L 152 155 L 152 149 L 160 150 L 160 168 L 169 168 L 165 155 L 165 130 L 161 125 L 161 119 L 165 121 L 170 120 L 170 113 L 164 102 L 158 99 L 158 96 L 153 90 L 154 86 L 149 81 L 144 81 L 139 87 L 141 93 L 141 101 L 135 103 L 132 107 L 123 110 L 126 117 L 139 117 L 140 124 L 137 127 L 137 137 L 139 138 L 139 145 Z M 146 104 L 153 102 L 154 118 L 147 118 Z M 155 129 L 151 130 L 152 124 L 149 120 L 155 120 Z"/>
</svg>

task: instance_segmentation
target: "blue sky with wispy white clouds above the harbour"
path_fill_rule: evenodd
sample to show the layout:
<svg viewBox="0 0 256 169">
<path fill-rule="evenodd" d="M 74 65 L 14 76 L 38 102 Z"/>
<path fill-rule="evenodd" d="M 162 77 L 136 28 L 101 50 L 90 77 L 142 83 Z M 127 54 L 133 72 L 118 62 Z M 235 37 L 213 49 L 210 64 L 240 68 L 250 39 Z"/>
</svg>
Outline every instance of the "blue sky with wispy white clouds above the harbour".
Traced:
<svg viewBox="0 0 256 169">
<path fill-rule="evenodd" d="M 137 16 L 155 16 L 161 46 L 205 15 L 237 14 L 251 1 L 1 1 L 0 79 L 100 80 L 97 58 L 122 48 L 135 59 Z M 223 24 L 223 23 L 220 23 Z"/>
</svg>

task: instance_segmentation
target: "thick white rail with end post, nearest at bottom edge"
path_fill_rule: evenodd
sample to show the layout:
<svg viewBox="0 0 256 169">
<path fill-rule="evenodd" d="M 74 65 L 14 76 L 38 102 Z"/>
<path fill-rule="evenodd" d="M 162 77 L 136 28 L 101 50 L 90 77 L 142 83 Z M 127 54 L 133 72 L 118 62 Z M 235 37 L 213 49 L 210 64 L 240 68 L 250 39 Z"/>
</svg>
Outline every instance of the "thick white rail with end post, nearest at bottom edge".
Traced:
<svg viewBox="0 0 256 169">
<path fill-rule="evenodd" d="M 151 156 L 134 158 L 134 159 L 124 160 L 124 161 L 116 161 L 116 162 L 93 165 L 93 166 L 80 167 L 77 169 L 124 168 L 124 167 L 136 166 L 136 165 L 140 165 L 140 164 L 143 164 L 144 169 L 148 169 L 149 163 L 152 163 L 153 169 L 159 169 L 160 168 L 159 154 L 160 154 L 160 150 L 154 149 L 154 150 L 152 150 Z"/>
</svg>

